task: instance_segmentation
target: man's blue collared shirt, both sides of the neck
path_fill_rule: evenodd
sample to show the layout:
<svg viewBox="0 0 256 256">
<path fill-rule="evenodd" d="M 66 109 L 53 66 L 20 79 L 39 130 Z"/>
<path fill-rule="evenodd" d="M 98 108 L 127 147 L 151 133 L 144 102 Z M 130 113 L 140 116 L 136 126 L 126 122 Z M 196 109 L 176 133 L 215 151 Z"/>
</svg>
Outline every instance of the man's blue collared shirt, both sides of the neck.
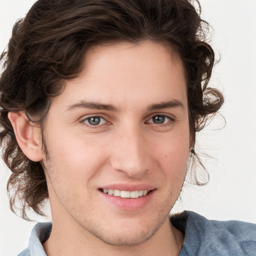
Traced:
<svg viewBox="0 0 256 256">
<path fill-rule="evenodd" d="M 179 256 L 256 256 L 256 224 L 242 221 L 217 221 L 183 211 L 170 218 L 185 238 Z M 51 222 L 37 223 L 29 246 L 18 256 L 46 256 L 42 242 L 50 234 Z"/>
</svg>

